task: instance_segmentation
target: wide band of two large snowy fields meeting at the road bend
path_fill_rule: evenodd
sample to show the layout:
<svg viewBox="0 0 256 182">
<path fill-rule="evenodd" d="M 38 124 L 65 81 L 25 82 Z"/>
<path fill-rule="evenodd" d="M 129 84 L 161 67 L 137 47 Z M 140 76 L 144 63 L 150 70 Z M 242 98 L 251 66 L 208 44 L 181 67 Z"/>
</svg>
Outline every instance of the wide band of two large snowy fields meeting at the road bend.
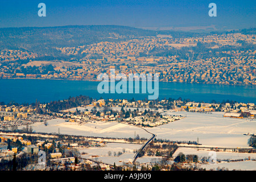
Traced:
<svg viewBox="0 0 256 182">
<path fill-rule="evenodd" d="M 119 109 L 119 108 L 118 108 Z M 185 115 L 186 118 L 167 123 L 157 127 L 146 129 L 157 135 L 158 139 L 174 141 L 197 141 L 203 145 L 213 147 L 248 147 L 250 138 L 243 133 L 256 133 L 256 121 L 236 118 L 224 118 L 224 113 L 189 113 L 173 112 L 172 115 Z M 134 133 L 139 137 L 150 138 L 151 134 L 139 129 L 139 127 L 125 125 L 117 122 L 89 122 L 78 123 L 65 122 L 64 119 L 52 119 L 48 126 L 44 123 L 34 123 L 32 128 L 36 132 L 84 135 L 92 137 L 109 138 L 134 138 Z"/>
</svg>

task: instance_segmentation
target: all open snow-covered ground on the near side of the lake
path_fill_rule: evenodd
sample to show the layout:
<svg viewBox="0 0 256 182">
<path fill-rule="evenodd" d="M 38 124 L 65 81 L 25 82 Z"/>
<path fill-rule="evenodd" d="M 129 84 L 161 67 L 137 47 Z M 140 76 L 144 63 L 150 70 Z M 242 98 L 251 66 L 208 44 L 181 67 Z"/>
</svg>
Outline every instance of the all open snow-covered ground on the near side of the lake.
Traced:
<svg viewBox="0 0 256 182">
<path fill-rule="evenodd" d="M 205 114 L 180 111 L 164 114 L 185 115 L 186 118 L 158 127 L 147 127 L 146 129 L 148 131 L 157 135 L 157 139 L 197 141 L 198 137 L 199 143 L 203 144 L 203 146 L 236 148 L 248 147 L 247 140 L 250 137 L 243 135 L 243 133 L 256 133 L 255 119 L 251 121 L 251 119 L 224 118 L 222 117 L 224 113 Z M 148 134 L 139 127 L 117 122 L 96 121 L 82 123 L 80 126 L 78 123 L 65 122 L 64 119 L 52 119 L 48 121 L 47 126 L 43 122 L 38 122 L 34 123 L 32 128 L 34 131 L 42 133 L 58 133 L 60 130 L 61 134 L 84 135 L 87 137 L 134 138 L 134 134 L 138 134 L 141 138 L 151 137 L 151 134 Z M 118 165 L 123 164 L 123 162 L 131 162 L 134 157 L 133 150 L 139 149 L 140 147 L 141 145 L 139 144 L 108 143 L 103 148 L 86 148 L 84 150 L 88 153 L 87 157 L 90 157 L 92 154 L 99 155 L 98 160 L 110 164 L 115 162 Z M 119 157 L 113 156 L 114 151 L 122 151 L 122 148 L 126 148 L 127 152 Z M 108 155 L 108 151 L 112 151 L 112 156 Z M 209 151 L 197 151 L 193 150 L 193 148 L 179 148 L 174 155 L 177 155 L 179 152 L 183 152 L 185 155 L 196 154 L 199 157 L 209 156 Z M 256 154 L 217 152 L 217 159 L 245 159 L 249 156 L 251 159 L 256 158 Z M 119 162 L 119 160 L 122 160 L 122 162 Z M 143 157 L 138 158 L 137 161 L 140 163 L 150 163 L 156 160 L 159 160 L 159 158 Z M 208 164 L 207 169 L 211 168 L 210 165 L 217 164 Z M 256 166 L 255 161 L 232 162 L 221 165 L 221 167 L 227 167 L 229 170 L 232 170 L 232 168 L 238 169 L 237 167 L 240 167 L 239 169 L 253 170 Z"/>
</svg>

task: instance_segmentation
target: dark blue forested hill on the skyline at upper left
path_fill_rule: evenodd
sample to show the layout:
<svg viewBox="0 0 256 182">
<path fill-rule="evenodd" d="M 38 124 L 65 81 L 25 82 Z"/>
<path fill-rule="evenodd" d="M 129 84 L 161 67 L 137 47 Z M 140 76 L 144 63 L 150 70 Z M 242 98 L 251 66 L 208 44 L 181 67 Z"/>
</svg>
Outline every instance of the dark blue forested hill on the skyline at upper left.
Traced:
<svg viewBox="0 0 256 182">
<path fill-rule="evenodd" d="M 0 28 L 1 49 L 25 49 L 40 54 L 57 55 L 53 47 L 76 47 L 102 41 L 116 42 L 158 34 L 174 38 L 197 33 L 152 31 L 114 25 Z"/>
</svg>

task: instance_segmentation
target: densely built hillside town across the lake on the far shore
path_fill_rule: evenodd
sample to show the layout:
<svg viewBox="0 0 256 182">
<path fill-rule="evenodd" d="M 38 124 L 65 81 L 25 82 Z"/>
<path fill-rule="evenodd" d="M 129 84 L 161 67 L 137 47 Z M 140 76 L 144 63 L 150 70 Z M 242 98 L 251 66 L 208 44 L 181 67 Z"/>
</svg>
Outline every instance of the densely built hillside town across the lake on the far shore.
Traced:
<svg viewBox="0 0 256 182">
<path fill-rule="evenodd" d="M 42 66 L 45 61 L 31 60 L 29 65 L 37 67 L 36 73 L 22 72 L 20 65 L 10 63 L 1 66 L 0 78 L 43 78 L 68 80 L 97 80 L 100 73 L 109 73 L 115 68 L 116 73 L 159 73 L 160 81 L 195 82 L 205 84 L 255 85 L 256 63 L 253 49 L 247 51 L 209 52 L 210 58 L 192 60 L 189 53 L 186 56 L 169 55 L 154 56 L 158 50 L 169 51 L 181 47 L 196 46 L 198 42 L 214 43 L 212 49 L 222 46 L 241 46 L 241 42 L 256 44 L 253 35 L 214 34 L 195 38 L 174 39 L 170 37 L 135 38 L 126 42 L 100 42 L 88 46 L 56 48 L 64 55 L 79 55 L 80 59 L 72 58 L 66 64 L 64 61 L 51 62 L 54 69 L 47 71 Z M 19 51 L 13 51 L 13 54 Z M 10 51 L 2 52 L 5 60 L 9 59 Z M 26 54 L 25 54 L 26 55 Z M 87 55 L 84 56 L 83 55 Z M 88 55 L 96 55 L 93 58 Z M 193 55 L 193 53 L 192 53 Z M 32 55 L 28 55 L 31 59 Z M 36 56 L 36 55 L 33 55 Z M 95 57 L 95 56 L 94 56 Z M 187 57 L 187 58 L 185 58 Z M 10 57 L 13 60 L 13 57 Z M 203 67 L 201 67 L 203 65 Z M 24 65 L 23 65 L 24 66 Z"/>
</svg>

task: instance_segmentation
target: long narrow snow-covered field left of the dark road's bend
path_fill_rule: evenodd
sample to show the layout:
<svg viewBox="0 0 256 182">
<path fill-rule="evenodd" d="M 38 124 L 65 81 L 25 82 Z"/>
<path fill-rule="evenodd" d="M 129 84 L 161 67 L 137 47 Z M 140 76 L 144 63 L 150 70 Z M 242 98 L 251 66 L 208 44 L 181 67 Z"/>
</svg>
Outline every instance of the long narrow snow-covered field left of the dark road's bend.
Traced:
<svg viewBox="0 0 256 182">
<path fill-rule="evenodd" d="M 102 122 L 96 121 L 82 123 L 79 125 L 75 122 L 65 122 L 64 119 L 52 119 L 44 122 L 32 124 L 32 129 L 35 132 L 41 133 L 58 133 L 69 135 L 81 135 L 86 137 L 105 137 L 105 138 L 134 138 L 134 133 L 139 137 L 150 138 L 151 134 L 147 133 L 139 127 L 129 126 L 117 122 Z M 21 126 L 22 128 L 23 126 Z"/>
</svg>

